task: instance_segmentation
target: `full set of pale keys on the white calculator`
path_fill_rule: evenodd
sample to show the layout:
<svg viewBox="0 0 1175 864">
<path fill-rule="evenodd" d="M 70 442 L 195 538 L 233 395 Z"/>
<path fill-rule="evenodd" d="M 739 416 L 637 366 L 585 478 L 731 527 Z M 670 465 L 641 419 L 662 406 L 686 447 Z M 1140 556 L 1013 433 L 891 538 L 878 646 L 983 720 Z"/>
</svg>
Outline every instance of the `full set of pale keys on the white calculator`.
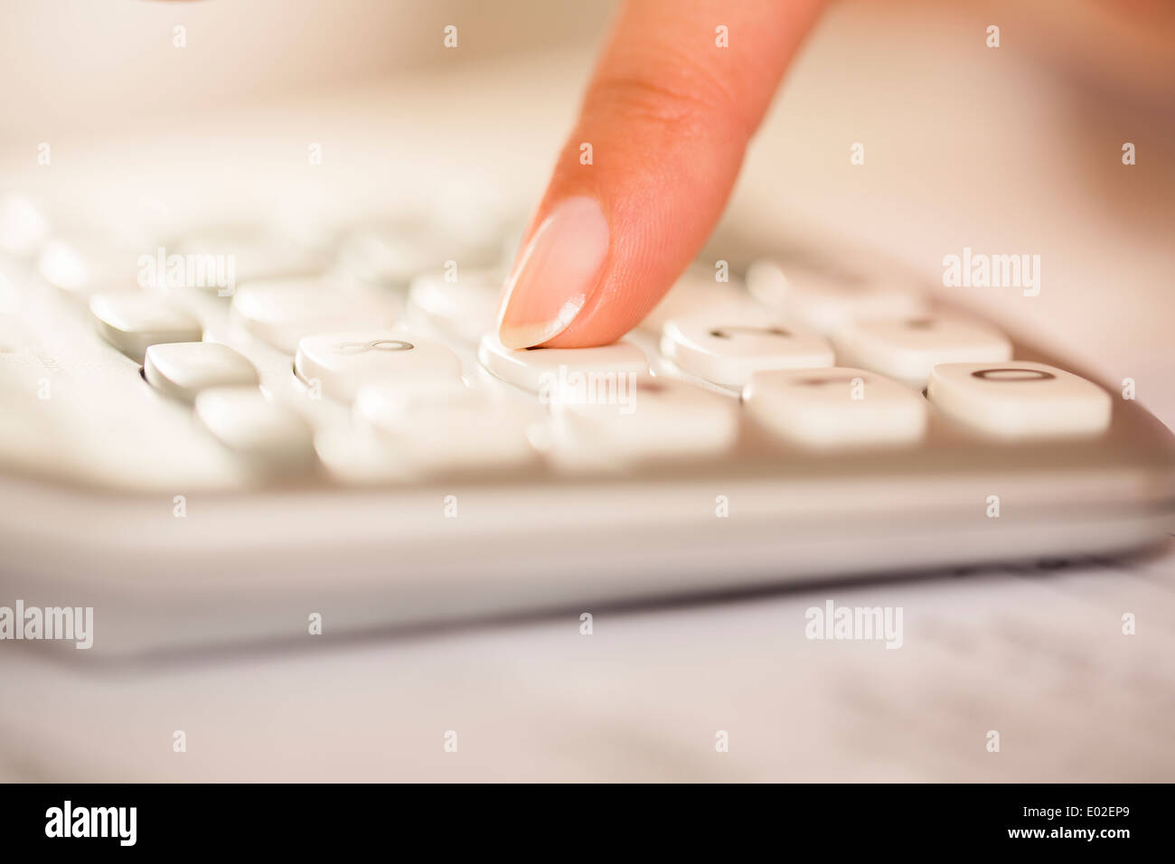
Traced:
<svg viewBox="0 0 1175 864">
<path fill-rule="evenodd" d="M 248 236 L 181 248 L 253 249 L 260 270 L 288 270 L 261 254 L 282 241 Z M 1108 394 L 1012 360 L 1010 341 L 989 324 L 927 312 L 901 286 L 810 266 L 759 262 L 746 288 L 692 268 L 631 337 L 508 349 L 494 327 L 501 268 L 450 279 L 437 249 L 405 236 L 352 233 L 334 269 L 242 281 L 230 303 L 167 286 L 115 289 L 101 248 L 85 243 L 51 240 L 38 269 L 55 296 L 92 295 L 99 333 L 143 363 L 155 390 L 193 403 L 227 450 L 281 470 L 317 460 L 348 483 L 536 463 L 629 470 L 778 455 L 780 444 L 913 448 L 932 417 L 935 436 L 941 426 L 1005 440 L 1109 424 Z M 94 293 L 99 283 L 107 288 Z M 223 317 L 207 317 L 213 307 Z M 304 410 L 290 401 L 300 397 L 311 400 Z"/>
</svg>

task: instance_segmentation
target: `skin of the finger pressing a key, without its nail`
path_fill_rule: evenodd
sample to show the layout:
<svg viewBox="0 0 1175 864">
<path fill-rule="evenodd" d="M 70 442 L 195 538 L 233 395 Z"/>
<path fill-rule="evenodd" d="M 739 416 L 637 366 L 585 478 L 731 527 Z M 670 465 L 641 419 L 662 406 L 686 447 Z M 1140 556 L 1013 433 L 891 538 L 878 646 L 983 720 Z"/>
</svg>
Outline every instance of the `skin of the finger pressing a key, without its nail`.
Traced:
<svg viewBox="0 0 1175 864">
<path fill-rule="evenodd" d="M 718 221 L 747 141 L 821 6 L 822 0 L 624 5 L 523 239 L 525 249 L 559 202 L 575 196 L 596 199 L 607 222 L 607 253 L 595 287 L 570 324 L 544 346 L 613 342 L 669 290 Z M 717 43 L 720 26 L 727 47 Z M 591 165 L 580 161 L 584 143 L 591 145 Z M 509 286 L 506 295 L 504 303 Z"/>
</svg>

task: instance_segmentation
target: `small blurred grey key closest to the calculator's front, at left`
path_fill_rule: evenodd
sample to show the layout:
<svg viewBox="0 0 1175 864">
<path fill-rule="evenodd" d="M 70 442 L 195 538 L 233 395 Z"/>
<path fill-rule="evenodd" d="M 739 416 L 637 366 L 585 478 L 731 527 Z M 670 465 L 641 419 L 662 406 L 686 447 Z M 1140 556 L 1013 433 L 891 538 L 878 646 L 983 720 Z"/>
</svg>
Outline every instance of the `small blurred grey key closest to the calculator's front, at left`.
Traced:
<svg viewBox="0 0 1175 864">
<path fill-rule="evenodd" d="M 224 447 L 275 470 L 306 468 L 314 458 L 310 426 L 256 387 L 216 387 L 196 396 L 196 416 Z"/>
</svg>

